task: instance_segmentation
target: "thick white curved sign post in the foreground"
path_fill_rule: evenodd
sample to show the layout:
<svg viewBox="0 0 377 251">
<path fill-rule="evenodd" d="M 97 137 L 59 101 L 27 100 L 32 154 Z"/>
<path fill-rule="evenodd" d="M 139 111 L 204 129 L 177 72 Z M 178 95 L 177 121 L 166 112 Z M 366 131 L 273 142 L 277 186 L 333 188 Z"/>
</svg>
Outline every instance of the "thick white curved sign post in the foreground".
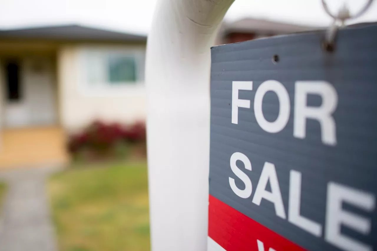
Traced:
<svg viewBox="0 0 377 251">
<path fill-rule="evenodd" d="M 207 249 L 210 46 L 233 1 L 156 5 L 146 62 L 153 251 Z"/>
</svg>

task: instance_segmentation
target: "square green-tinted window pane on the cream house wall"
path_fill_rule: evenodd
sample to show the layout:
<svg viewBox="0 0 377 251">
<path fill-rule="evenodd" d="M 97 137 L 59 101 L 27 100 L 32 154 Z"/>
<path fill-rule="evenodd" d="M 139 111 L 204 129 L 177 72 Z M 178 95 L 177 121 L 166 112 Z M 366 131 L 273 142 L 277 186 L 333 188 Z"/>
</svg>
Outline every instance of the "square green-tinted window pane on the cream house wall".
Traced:
<svg viewBox="0 0 377 251">
<path fill-rule="evenodd" d="M 109 82 L 135 82 L 136 62 L 133 57 L 112 56 L 109 57 Z"/>
</svg>

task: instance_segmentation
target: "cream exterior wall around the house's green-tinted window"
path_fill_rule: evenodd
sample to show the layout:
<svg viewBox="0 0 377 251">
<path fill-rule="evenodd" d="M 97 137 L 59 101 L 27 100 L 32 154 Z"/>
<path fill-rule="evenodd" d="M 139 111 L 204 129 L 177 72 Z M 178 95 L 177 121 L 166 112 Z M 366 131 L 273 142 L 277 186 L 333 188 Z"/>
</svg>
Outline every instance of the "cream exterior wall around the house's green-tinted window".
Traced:
<svg viewBox="0 0 377 251">
<path fill-rule="evenodd" d="M 139 81 L 109 85 L 92 84 L 86 72 L 89 53 L 130 53 L 138 59 Z M 95 119 L 106 122 L 131 123 L 146 118 L 144 87 L 145 44 L 133 45 L 69 45 L 57 54 L 60 123 L 75 131 Z M 96 72 L 96 71 L 94 71 Z"/>
</svg>

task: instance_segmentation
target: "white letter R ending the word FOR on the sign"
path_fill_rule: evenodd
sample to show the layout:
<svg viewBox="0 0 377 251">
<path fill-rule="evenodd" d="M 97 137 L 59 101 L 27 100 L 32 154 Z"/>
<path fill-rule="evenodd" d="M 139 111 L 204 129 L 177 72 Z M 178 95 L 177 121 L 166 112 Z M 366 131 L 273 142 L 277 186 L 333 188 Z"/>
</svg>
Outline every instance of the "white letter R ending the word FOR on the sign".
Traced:
<svg viewBox="0 0 377 251">
<path fill-rule="evenodd" d="M 308 107 L 308 94 L 321 96 L 321 106 Z M 321 125 L 323 144 L 336 145 L 336 126 L 332 115 L 337 104 L 338 95 L 330 83 L 326 81 L 296 81 L 294 87 L 293 136 L 304 139 L 306 136 L 306 120 L 316 119 Z"/>
</svg>

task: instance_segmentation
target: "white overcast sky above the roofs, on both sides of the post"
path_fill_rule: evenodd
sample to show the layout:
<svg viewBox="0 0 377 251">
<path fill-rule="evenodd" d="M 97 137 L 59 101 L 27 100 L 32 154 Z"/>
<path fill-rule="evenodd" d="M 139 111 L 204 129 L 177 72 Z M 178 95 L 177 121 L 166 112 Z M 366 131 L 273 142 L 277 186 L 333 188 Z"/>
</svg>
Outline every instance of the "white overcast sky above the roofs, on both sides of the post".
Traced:
<svg viewBox="0 0 377 251">
<path fill-rule="evenodd" d="M 0 28 L 51 24 L 84 24 L 146 34 L 158 0 L 0 0 Z M 335 12 L 347 3 L 351 13 L 367 0 L 326 0 Z M 225 19 L 263 18 L 291 23 L 328 25 L 321 0 L 236 0 Z M 359 21 L 377 21 L 377 1 Z"/>
</svg>

